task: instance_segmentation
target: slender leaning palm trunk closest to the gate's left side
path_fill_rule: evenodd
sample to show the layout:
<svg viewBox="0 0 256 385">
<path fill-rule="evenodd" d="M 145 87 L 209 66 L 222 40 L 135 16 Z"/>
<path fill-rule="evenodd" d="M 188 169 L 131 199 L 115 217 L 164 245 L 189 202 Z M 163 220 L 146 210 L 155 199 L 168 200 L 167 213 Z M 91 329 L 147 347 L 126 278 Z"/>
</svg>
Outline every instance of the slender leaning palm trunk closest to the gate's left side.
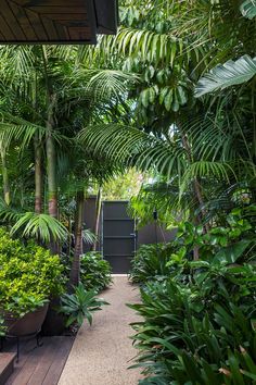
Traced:
<svg viewBox="0 0 256 385">
<path fill-rule="evenodd" d="M 69 276 L 69 287 L 77 286 L 80 281 L 80 256 L 82 254 L 82 225 L 84 225 L 85 192 L 77 192 L 75 250 Z"/>
</svg>

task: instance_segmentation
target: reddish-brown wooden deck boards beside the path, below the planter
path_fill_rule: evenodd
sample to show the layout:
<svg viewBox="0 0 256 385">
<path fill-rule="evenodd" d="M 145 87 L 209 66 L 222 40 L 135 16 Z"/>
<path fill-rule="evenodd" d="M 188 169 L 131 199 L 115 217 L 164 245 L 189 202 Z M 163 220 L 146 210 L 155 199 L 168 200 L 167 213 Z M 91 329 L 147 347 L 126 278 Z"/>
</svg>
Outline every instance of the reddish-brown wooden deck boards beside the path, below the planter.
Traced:
<svg viewBox="0 0 256 385">
<path fill-rule="evenodd" d="M 72 349 L 74 337 L 43 337 L 43 345 L 30 339 L 21 344 L 20 361 L 5 385 L 55 385 L 62 374 Z M 7 343 L 3 349 L 15 351 L 15 345 Z"/>
</svg>

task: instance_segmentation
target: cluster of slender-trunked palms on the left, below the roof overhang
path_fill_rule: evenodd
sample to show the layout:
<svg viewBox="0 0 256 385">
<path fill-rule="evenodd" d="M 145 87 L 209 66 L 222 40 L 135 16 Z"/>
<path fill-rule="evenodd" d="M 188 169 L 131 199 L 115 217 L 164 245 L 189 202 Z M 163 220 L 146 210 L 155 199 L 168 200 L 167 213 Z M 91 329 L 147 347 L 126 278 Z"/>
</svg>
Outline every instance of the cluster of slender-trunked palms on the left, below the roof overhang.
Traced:
<svg viewBox="0 0 256 385">
<path fill-rule="evenodd" d="M 14 50 L 20 52 L 16 47 Z M 57 252 L 57 236 L 62 241 L 66 236 L 59 221 L 62 214 L 57 194 L 65 194 L 65 189 L 62 189 L 65 182 L 72 183 L 76 197 L 76 214 L 71 285 L 77 285 L 79 258 L 82 253 L 85 192 L 92 179 L 102 184 L 113 175 L 115 166 L 99 156 L 92 157 L 90 151 L 74 141 L 74 136 L 90 122 L 101 122 L 111 116 L 115 100 L 126 91 L 130 76 L 120 71 L 88 70 L 85 63 L 74 61 L 76 49 L 60 52 L 59 47 L 55 50 L 51 47 L 36 47 L 35 50 L 28 48 L 27 52 L 26 48 L 22 47 L 21 51 L 28 58 L 27 63 L 22 65 L 26 71 L 16 71 L 17 86 L 15 83 L 10 85 L 13 72 L 5 75 L 4 82 L 15 96 L 24 94 L 25 114 L 22 111 L 21 116 L 15 116 L 13 111 L 9 110 L 10 105 L 3 109 L 4 125 L 0 135 L 10 144 L 20 140 L 22 149 L 31 146 L 34 140 L 35 213 L 28 211 L 23 215 L 14 225 L 13 232 L 23 228 L 23 235 L 36 235 L 44 243 L 51 240 L 52 252 Z M 5 65 L 12 60 L 12 53 L 10 49 L 5 52 Z M 62 61 L 63 54 L 65 63 Z M 21 65 L 20 61 L 15 64 Z M 34 79 L 33 87 L 30 78 Z M 28 89 L 24 85 L 26 82 Z M 36 112 L 29 109 L 30 103 Z M 12 127 L 12 131 L 8 131 L 8 127 Z M 42 210 L 46 181 L 43 171 L 47 176 L 44 190 L 48 194 L 50 216 Z M 40 228 L 40 225 L 43 227 Z"/>
</svg>

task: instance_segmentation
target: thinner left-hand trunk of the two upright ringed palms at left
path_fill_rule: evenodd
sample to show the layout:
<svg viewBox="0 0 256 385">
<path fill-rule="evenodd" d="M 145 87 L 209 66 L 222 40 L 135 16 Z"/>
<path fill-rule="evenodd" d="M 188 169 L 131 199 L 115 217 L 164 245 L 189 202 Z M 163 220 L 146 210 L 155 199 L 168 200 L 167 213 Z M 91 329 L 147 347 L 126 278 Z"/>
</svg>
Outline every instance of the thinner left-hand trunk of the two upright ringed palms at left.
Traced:
<svg viewBox="0 0 256 385">
<path fill-rule="evenodd" d="M 35 212 L 42 212 L 42 149 L 38 134 L 35 136 Z"/>
</svg>

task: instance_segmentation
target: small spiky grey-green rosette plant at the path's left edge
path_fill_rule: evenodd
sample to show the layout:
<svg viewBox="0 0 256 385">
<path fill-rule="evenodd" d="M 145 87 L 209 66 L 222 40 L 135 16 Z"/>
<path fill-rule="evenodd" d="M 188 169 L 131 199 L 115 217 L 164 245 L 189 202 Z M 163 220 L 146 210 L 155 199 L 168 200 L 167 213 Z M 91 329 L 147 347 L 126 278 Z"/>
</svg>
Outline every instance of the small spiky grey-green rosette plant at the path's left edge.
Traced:
<svg viewBox="0 0 256 385">
<path fill-rule="evenodd" d="M 92 324 L 92 313 L 101 310 L 102 305 L 108 305 L 104 299 L 97 298 L 97 291 L 86 290 L 80 283 L 74 294 L 61 297 L 60 312 L 67 316 L 66 326 L 77 323 L 81 326 L 85 319 Z"/>
</svg>

